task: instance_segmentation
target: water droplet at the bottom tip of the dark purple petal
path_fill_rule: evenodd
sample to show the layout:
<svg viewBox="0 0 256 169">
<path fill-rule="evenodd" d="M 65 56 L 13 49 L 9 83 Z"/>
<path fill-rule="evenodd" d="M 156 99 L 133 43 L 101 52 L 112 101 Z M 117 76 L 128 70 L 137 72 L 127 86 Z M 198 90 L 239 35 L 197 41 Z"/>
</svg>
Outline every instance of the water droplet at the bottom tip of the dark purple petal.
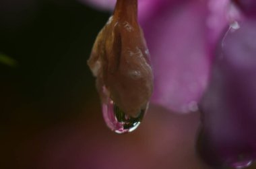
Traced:
<svg viewBox="0 0 256 169">
<path fill-rule="evenodd" d="M 249 157 L 246 158 L 243 155 L 239 156 L 234 160 L 230 160 L 230 166 L 236 169 L 247 168 L 251 166 L 252 163 L 253 163 L 252 158 L 249 158 Z"/>
</svg>

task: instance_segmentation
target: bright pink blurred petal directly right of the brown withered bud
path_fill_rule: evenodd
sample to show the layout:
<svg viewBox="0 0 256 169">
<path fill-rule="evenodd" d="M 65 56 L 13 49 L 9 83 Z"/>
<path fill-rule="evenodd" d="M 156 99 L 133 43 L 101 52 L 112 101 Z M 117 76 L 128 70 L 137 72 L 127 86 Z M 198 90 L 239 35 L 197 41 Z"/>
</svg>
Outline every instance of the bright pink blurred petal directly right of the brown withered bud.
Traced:
<svg viewBox="0 0 256 169">
<path fill-rule="evenodd" d="M 208 38 L 209 2 L 172 4 L 142 23 L 152 55 L 154 103 L 177 112 L 197 110 L 197 101 L 207 85 L 210 71 L 210 39 L 214 39 L 223 22 L 226 23 L 220 20 L 219 26 L 212 24 L 216 28 L 211 29 L 216 32 Z"/>
</svg>

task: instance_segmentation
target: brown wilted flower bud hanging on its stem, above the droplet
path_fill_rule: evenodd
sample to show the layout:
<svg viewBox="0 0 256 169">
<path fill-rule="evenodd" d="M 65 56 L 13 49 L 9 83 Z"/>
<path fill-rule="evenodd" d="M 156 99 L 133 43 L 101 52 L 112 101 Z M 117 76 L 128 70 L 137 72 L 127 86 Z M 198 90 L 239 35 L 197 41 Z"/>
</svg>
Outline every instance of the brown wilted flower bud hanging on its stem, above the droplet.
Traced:
<svg viewBox="0 0 256 169">
<path fill-rule="evenodd" d="M 96 76 L 102 102 L 110 97 L 133 117 L 146 110 L 153 74 L 150 53 L 137 22 L 137 0 L 117 0 L 113 16 L 96 38 L 88 65 Z"/>
</svg>

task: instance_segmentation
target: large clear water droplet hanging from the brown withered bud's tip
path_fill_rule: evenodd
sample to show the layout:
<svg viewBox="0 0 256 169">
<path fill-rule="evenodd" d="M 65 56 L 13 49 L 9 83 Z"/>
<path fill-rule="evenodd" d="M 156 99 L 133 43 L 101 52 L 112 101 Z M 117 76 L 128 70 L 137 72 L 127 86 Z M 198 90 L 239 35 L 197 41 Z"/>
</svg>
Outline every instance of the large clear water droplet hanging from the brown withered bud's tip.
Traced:
<svg viewBox="0 0 256 169">
<path fill-rule="evenodd" d="M 115 133 L 130 133 L 139 127 L 146 110 L 141 110 L 137 117 L 129 116 L 110 98 L 107 103 L 102 104 L 102 113 L 106 125 Z"/>
</svg>

